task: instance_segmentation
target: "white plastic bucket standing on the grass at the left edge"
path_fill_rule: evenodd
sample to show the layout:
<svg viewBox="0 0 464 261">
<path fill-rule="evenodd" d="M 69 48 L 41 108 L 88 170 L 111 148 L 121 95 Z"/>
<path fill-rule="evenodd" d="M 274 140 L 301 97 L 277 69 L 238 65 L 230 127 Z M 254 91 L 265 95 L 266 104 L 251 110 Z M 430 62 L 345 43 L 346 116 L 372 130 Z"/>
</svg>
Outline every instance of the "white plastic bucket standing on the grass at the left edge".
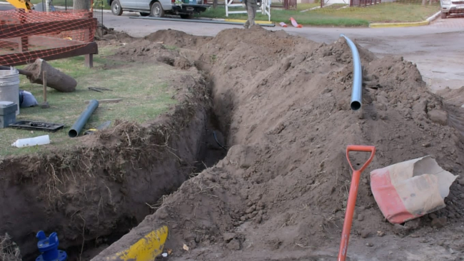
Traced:
<svg viewBox="0 0 464 261">
<path fill-rule="evenodd" d="M 16 103 L 16 115 L 19 114 L 19 72 L 16 68 L 0 70 L 0 101 Z"/>
</svg>

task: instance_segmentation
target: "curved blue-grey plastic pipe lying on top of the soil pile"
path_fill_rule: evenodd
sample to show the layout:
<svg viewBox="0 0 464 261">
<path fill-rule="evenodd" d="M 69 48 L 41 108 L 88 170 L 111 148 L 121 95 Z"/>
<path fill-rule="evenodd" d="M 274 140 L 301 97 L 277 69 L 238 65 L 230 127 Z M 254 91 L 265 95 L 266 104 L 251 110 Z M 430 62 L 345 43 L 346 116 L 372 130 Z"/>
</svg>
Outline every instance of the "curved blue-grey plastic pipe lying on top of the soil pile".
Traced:
<svg viewBox="0 0 464 261">
<path fill-rule="evenodd" d="M 340 37 L 345 38 L 346 43 L 351 48 L 353 55 L 353 90 L 351 90 L 350 107 L 353 111 L 358 111 L 362 106 L 363 101 L 363 69 L 359 58 L 358 48 L 348 37 L 341 34 Z"/>
</svg>

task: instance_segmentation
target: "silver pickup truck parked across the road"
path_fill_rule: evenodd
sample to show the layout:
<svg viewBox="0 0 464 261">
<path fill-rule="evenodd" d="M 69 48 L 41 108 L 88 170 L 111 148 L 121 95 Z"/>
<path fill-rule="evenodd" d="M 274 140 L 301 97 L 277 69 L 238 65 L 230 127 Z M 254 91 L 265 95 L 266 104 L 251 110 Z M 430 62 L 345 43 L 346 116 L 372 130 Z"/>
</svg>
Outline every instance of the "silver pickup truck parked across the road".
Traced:
<svg viewBox="0 0 464 261">
<path fill-rule="evenodd" d="M 206 11 L 210 5 L 203 0 L 106 0 L 111 6 L 111 13 L 120 16 L 123 11 L 136 11 L 141 16 L 163 17 L 176 14 L 183 19 L 190 19 L 193 14 Z"/>
</svg>

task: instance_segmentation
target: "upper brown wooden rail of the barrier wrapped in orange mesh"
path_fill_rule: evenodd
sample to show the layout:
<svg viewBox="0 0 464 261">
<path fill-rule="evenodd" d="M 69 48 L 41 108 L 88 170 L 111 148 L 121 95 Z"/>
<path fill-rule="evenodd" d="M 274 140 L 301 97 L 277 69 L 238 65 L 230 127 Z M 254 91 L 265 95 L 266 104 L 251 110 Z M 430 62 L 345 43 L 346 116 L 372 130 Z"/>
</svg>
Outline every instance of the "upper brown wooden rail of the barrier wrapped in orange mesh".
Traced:
<svg viewBox="0 0 464 261">
<path fill-rule="evenodd" d="M 0 27 L 0 39 L 88 29 L 90 26 L 87 26 L 86 24 L 94 24 L 95 27 L 96 18 L 3 25 Z M 40 30 L 37 31 L 37 29 Z M 34 32 L 34 34 L 32 32 Z"/>
</svg>

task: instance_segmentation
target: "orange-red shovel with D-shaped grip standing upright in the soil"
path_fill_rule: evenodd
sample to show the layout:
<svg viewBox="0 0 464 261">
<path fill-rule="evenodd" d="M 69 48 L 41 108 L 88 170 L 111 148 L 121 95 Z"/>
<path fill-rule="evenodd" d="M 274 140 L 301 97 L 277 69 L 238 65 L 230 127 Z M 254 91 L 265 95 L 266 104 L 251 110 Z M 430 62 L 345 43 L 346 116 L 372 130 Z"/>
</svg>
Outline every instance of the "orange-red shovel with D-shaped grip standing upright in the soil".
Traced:
<svg viewBox="0 0 464 261">
<path fill-rule="evenodd" d="M 368 161 L 359 169 L 355 170 L 351 164 L 349 153 L 350 151 L 370 152 Z M 351 224 L 353 223 L 353 213 L 355 211 L 356 196 L 358 196 L 359 178 L 365 168 L 368 167 L 370 161 L 374 158 L 375 147 L 363 145 L 348 145 L 346 148 L 346 158 L 353 170 L 353 177 L 351 178 L 350 193 L 348 194 L 348 203 L 346 204 L 345 222 L 343 222 L 343 230 L 341 232 L 340 250 L 338 250 L 338 261 L 346 260 L 346 252 L 348 251 L 348 240 L 350 238 Z"/>
</svg>

